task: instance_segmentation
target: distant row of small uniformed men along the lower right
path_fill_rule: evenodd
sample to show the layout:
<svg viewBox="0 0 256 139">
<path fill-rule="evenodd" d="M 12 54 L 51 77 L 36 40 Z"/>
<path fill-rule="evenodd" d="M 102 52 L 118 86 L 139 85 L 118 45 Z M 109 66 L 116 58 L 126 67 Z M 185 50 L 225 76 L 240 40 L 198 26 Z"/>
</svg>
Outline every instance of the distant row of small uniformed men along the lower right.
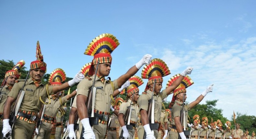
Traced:
<svg viewBox="0 0 256 139">
<path fill-rule="evenodd" d="M 240 124 L 236 123 L 236 129 L 231 129 L 230 121 L 225 123 L 226 130 L 223 129 L 223 124 L 220 120 L 213 122 L 208 125 L 208 118 L 203 117 L 200 124 L 199 115 L 193 116 L 193 123 L 188 123 L 191 127 L 189 139 L 255 139 L 255 133 L 252 132 L 249 135 L 248 130 L 243 133 L 240 129 Z"/>
</svg>

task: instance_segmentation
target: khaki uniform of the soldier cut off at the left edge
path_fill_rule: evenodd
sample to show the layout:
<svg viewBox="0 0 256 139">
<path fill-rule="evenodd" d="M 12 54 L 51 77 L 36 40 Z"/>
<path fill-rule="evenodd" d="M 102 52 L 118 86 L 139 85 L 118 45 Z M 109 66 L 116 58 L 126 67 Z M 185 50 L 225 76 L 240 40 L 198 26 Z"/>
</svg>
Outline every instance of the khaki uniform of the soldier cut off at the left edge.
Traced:
<svg viewBox="0 0 256 139">
<path fill-rule="evenodd" d="M 1 90 L 2 87 L 0 87 L 0 90 Z M 5 105 L 5 102 L 7 100 L 7 95 L 9 94 L 10 90 L 8 88 L 7 85 L 5 85 L 1 91 L 1 99 L 0 99 L 0 139 L 3 138 L 3 133 L 2 133 L 2 130 L 3 130 L 3 119 L 4 119 L 4 115 L 3 115 L 3 112 L 4 112 L 4 105 Z M 12 108 L 11 108 L 12 109 Z"/>
</svg>

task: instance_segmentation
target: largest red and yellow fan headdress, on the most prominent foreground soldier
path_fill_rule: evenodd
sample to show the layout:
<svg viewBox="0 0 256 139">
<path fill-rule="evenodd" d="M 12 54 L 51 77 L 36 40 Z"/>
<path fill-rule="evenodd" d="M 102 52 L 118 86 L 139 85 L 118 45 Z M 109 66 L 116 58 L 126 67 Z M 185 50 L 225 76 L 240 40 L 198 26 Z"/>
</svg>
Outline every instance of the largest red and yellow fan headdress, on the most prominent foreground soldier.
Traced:
<svg viewBox="0 0 256 139">
<path fill-rule="evenodd" d="M 115 48 L 118 47 L 120 43 L 112 34 L 101 34 L 99 37 L 96 37 L 92 42 L 87 46 L 84 54 L 89 56 L 94 56 L 92 60 L 92 65 L 95 65 L 99 62 L 102 63 L 111 63 L 112 57 L 111 53 Z M 90 67 L 89 76 L 94 74 L 93 66 Z"/>
</svg>

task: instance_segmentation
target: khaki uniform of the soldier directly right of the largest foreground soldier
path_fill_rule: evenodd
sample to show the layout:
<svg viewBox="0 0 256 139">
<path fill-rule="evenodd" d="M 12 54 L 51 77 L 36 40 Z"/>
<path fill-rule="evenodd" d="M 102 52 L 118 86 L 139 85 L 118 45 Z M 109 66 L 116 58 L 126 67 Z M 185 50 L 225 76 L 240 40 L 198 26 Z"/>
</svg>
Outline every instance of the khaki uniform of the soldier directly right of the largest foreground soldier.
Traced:
<svg viewBox="0 0 256 139">
<path fill-rule="evenodd" d="M 148 110 L 148 101 L 151 99 L 152 91 L 147 90 L 143 92 L 138 99 L 139 109 Z M 155 110 L 154 110 L 154 117 L 155 123 L 160 125 L 161 119 L 161 111 L 162 111 L 162 100 L 167 96 L 166 91 L 163 90 L 162 92 L 158 93 L 157 95 L 153 95 L 153 99 L 155 100 Z M 149 121 L 151 123 L 151 121 Z M 139 139 L 143 138 L 144 135 L 144 128 L 143 126 L 139 126 L 138 128 L 138 137 Z M 154 136 L 158 137 L 158 131 L 154 130 Z"/>
</svg>

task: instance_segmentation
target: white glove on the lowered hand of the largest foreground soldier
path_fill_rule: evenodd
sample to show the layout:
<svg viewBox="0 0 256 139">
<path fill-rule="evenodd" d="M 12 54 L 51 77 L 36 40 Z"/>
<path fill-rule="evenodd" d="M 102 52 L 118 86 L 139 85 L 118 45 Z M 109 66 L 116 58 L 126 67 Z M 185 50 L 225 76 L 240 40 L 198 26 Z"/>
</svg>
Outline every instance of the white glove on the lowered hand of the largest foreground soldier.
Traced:
<svg viewBox="0 0 256 139">
<path fill-rule="evenodd" d="M 89 123 L 89 118 L 85 118 L 81 120 L 81 123 L 84 126 L 84 134 L 83 137 L 85 139 L 95 139 L 95 134 L 92 131 L 92 128 Z"/>
</svg>

